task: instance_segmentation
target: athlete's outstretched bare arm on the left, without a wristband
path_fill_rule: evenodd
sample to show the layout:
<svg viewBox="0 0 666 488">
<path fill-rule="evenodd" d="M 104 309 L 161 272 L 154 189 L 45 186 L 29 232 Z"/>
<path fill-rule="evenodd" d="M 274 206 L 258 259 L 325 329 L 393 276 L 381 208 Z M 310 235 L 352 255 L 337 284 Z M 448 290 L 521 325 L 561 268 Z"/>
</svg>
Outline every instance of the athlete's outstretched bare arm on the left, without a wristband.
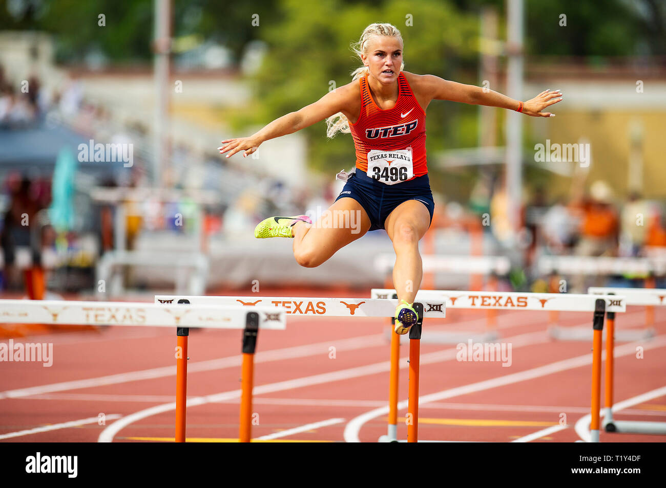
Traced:
<svg viewBox="0 0 666 488">
<path fill-rule="evenodd" d="M 340 110 L 349 106 L 353 100 L 352 94 L 358 96 L 358 88 L 350 90 L 348 85 L 340 86 L 340 88 L 328 92 L 316 102 L 304 106 L 297 112 L 290 112 L 280 118 L 276 118 L 273 122 L 270 122 L 270 124 L 256 132 L 256 134 L 252 134 L 252 136 L 223 140 L 222 146 L 218 150 L 220 150 L 220 154 L 228 152 L 229 154 L 226 155 L 227 158 L 240 151 L 245 151 L 243 156 L 246 157 L 248 154 L 255 152 L 264 141 L 285 136 L 286 134 L 293 134 L 333 114 L 337 114 Z"/>
</svg>

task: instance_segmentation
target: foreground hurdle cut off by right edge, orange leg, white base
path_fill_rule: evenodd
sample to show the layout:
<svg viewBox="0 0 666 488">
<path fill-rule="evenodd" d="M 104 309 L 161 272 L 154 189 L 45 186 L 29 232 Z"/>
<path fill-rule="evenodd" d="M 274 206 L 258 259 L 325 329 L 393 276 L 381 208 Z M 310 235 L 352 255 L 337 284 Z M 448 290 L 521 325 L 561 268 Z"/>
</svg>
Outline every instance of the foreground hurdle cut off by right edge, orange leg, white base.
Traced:
<svg viewBox="0 0 666 488">
<path fill-rule="evenodd" d="M 626 299 L 627 305 L 666 306 L 666 289 L 641 288 L 601 288 L 587 289 L 591 295 L 614 295 L 618 293 Z M 613 358 L 615 334 L 615 314 L 606 313 L 606 370 L 605 370 L 605 405 L 603 427 L 607 432 L 666 434 L 666 422 L 645 422 L 633 420 L 613 420 L 613 384 L 615 364 Z"/>
</svg>

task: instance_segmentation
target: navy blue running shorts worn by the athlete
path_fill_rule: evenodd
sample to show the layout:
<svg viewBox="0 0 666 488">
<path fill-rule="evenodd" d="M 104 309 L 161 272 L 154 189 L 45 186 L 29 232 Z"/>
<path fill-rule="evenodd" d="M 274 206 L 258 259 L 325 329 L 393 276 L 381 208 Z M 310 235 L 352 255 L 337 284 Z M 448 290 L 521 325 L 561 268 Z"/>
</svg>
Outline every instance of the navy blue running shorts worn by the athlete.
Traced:
<svg viewBox="0 0 666 488">
<path fill-rule="evenodd" d="M 350 197 L 358 201 L 370 217 L 370 230 L 384 229 L 386 217 L 400 203 L 408 200 L 418 200 L 428 208 L 430 223 L 435 211 L 435 201 L 430 189 L 430 178 L 427 174 L 417 176 L 412 180 L 395 185 L 387 185 L 370 178 L 361 170 L 350 174 L 340 195 L 335 199 Z"/>
</svg>

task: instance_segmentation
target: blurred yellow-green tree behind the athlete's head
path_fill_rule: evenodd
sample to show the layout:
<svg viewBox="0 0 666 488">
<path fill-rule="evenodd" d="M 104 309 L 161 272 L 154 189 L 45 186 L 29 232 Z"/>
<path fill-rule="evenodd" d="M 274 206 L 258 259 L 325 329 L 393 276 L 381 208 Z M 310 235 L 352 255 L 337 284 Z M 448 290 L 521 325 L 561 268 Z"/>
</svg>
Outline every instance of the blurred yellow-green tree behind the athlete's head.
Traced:
<svg viewBox="0 0 666 488">
<path fill-rule="evenodd" d="M 335 86 L 350 82 L 350 72 L 361 64 L 350 43 L 358 41 L 370 23 L 388 22 L 400 29 L 407 71 L 448 78 L 460 66 L 474 66 L 477 57 L 476 15 L 460 13 L 448 2 L 389 0 L 371 8 L 341 0 L 282 0 L 279 5 L 281 20 L 259 32 L 269 51 L 256 79 L 260 109 L 252 116 L 254 123 L 267 124 L 318 100 L 331 82 Z M 407 15 L 412 16 L 412 25 L 406 25 Z M 441 149 L 450 137 L 447 128 L 454 120 L 450 113 L 454 104 L 447 103 L 433 102 L 428 108 L 429 150 Z M 338 134 L 328 140 L 325 122 L 305 131 L 312 166 L 326 171 L 353 166 L 351 136 Z M 476 134 L 470 144 L 474 138 Z"/>
</svg>

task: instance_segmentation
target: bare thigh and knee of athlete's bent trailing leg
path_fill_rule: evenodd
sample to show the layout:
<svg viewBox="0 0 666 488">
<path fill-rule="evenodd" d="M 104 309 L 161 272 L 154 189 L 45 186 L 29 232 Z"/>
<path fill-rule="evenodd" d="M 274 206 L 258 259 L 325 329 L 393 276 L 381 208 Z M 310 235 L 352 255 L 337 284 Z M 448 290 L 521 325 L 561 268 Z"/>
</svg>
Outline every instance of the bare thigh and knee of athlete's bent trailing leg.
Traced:
<svg viewBox="0 0 666 488">
<path fill-rule="evenodd" d="M 294 257 L 299 265 L 319 266 L 370 229 L 370 217 L 353 198 L 340 198 L 327 212 L 317 222 L 298 222 L 292 227 Z"/>
</svg>

